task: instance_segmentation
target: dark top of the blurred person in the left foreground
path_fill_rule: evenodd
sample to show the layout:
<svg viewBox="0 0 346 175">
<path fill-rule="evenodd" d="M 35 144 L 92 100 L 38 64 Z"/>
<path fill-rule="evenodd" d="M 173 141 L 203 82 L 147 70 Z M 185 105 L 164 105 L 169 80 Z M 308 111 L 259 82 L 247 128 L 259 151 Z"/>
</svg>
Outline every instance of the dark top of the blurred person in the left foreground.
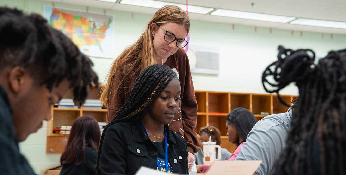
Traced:
<svg viewBox="0 0 346 175">
<path fill-rule="evenodd" d="M 12 111 L 6 91 L 0 86 L 0 174 L 34 174 L 28 161 L 19 152 L 12 122 Z"/>
</svg>

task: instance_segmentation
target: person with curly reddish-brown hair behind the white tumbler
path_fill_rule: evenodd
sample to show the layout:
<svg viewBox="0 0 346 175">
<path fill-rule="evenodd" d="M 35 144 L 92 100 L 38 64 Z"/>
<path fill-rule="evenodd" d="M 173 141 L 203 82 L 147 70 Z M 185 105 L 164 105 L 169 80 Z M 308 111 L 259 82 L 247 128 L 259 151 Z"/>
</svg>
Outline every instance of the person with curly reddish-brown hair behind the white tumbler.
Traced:
<svg viewBox="0 0 346 175">
<path fill-rule="evenodd" d="M 203 156 L 204 156 L 203 142 L 208 142 L 209 136 L 211 136 L 212 142 L 216 142 L 216 145 L 221 144 L 221 134 L 217 127 L 214 127 L 214 126 L 202 127 L 199 130 L 199 135 L 200 135 L 199 144 L 201 145 L 201 149 L 197 153 L 194 154 L 197 168 L 199 167 L 197 165 L 203 164 Z M 232 153 L 230 153 L 226 148 L 221 148 L 221 160 L 228 160 L 231 154 Z"/>
</svg>

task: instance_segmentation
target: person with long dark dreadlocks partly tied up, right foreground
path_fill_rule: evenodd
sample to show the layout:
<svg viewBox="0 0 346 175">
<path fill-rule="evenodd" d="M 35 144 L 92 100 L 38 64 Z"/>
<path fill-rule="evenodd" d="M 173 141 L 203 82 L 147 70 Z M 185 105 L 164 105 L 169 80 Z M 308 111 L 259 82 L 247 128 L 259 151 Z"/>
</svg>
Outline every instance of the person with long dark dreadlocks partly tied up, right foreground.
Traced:
<svg viewBox="0 0 346 175">
<path fill-rule="evenodd" d="M 330 51 L 314 64 L 311 50 L 279 47 L 278 61 L 263 73 L 274 76 L 277 90 L 295 82 L 294 108 L 287 146 L 273 173 L 327 175 L 346 173 L 346 49 Z M 280 72 L 278 70 L 281 70 Z"/>
</svg>

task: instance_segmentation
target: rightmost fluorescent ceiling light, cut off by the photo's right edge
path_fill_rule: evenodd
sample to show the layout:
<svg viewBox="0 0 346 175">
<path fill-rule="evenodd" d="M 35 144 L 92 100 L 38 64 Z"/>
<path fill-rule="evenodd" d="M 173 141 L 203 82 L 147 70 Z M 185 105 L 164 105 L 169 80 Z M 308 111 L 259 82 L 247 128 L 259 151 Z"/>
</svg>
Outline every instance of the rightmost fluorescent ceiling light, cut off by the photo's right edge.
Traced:
<svg viewBox="0 0 346 175">
<path fill-rule="evenodd" d="M 346 22 L 325 21 L 325 20 L 317 20 L 317 19 L 299 18 L 294 21 L 291 21 L 290 24 L 346 29 Z"/>
</svg>

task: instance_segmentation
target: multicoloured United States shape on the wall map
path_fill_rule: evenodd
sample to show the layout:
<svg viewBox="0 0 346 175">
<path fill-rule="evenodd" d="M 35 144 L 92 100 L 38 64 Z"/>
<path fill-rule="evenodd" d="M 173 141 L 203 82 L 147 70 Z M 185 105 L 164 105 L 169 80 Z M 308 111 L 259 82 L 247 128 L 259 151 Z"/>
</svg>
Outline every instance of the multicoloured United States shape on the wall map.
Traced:
<svg viewBox="0 0 346 175">
<path fill-rule="evenodd" d="M 91 22 L 93 21 L 87 21 L 84 17 L 74 16 L 58 10 L 53 10 L 49 19 L 51 26 L 62 31 L 78 48 L 84 45 L 98 45 L 101 52 L 103 52 L 100 42 L 104 39 L 104 32 L 109 28 L 112 21 L 109 19 L 98 29 L 95 23 L 91 26 Z"/>
</svg>

